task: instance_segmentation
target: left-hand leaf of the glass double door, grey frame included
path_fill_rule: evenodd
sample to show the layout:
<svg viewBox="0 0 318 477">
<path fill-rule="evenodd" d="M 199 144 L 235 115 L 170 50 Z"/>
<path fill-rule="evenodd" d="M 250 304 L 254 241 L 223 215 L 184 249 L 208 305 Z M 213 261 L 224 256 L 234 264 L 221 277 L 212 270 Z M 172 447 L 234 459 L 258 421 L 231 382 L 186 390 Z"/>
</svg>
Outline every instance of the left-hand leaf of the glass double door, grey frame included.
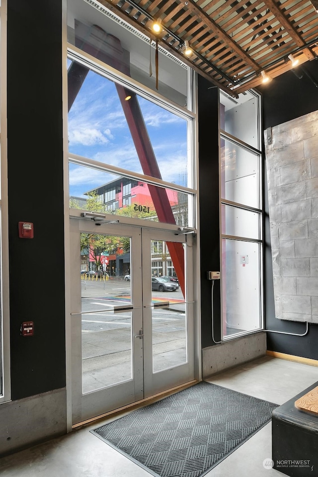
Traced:
<svg viewBox="0 0 318 477">
<path fill-rule="evenodd" d="M 140 230 L 71 219 L 73 424 L 142 399 Z"/>
</svg>

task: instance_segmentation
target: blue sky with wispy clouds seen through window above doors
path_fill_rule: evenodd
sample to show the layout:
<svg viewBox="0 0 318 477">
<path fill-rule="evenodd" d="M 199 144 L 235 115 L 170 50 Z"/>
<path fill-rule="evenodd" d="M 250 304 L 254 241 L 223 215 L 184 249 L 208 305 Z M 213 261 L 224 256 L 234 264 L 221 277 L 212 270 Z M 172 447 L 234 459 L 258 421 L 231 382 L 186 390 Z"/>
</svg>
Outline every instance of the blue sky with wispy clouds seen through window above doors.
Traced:
<svg viewBox="0 0 318 477">
<path fill-rule="evenodd" d="M 162 179 L 186 184 L 186 121 L 151 101 L 139 98 Z M 139 158 L 112 81 L 89 72 L 69 112 L 69 151 L 142 173 Z M 70 195 L 115 179 L 111 174 L 71 164 Z"/>
</svg>

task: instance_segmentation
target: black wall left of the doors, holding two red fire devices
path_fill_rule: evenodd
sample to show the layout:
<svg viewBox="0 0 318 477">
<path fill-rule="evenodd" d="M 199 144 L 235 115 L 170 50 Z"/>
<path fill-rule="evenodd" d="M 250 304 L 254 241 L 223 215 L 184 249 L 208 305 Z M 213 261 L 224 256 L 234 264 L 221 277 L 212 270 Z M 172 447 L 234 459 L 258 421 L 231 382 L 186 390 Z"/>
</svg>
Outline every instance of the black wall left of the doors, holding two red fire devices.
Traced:
<svg viewBox="0 0 318 477">
<path fill-rule="evenodd" d="M 65 387 L 61 0 L 8 2 L 12 400 Z M 34 239 L 18 238 L 18 222 Z M 22 321 L 34 336 L 20 336 Z"/>
</svg>

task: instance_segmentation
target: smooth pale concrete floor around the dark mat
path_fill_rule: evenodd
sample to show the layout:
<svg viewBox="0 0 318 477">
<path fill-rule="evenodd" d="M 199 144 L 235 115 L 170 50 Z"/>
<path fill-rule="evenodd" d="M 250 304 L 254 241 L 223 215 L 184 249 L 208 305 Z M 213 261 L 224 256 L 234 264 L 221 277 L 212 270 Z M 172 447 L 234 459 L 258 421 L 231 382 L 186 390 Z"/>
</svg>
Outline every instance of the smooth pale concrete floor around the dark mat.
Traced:
<svg viewBox="0 0 318 477">
<path fill-rule="evenodd" d="M 283 404 L 318 381 L 318 368 L 268 356 L 209 379 L 211 383 Z M 1 477 L 150 477 L 89 432 L 105 421 L 0 459 Z M 263 466 L 271 459 L 271 423 L 245 441 L 206 477 L 279 477 Z"/>
</svg>

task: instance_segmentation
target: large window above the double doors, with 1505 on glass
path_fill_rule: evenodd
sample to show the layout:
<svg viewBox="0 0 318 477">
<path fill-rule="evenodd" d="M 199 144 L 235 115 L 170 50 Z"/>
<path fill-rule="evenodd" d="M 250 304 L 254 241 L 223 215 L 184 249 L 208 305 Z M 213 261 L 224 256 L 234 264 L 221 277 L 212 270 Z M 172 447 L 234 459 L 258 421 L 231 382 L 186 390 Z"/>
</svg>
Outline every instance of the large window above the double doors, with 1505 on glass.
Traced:
<svg viewBox="0 0 318 477">
<path fill-rule="evenodd" d="M 70 207 L 195 227 L 193 72 L 160 51 L 157 90 L 137 58 L 149 38 L 107 9 L 70 11 Z"/>
</svg>

